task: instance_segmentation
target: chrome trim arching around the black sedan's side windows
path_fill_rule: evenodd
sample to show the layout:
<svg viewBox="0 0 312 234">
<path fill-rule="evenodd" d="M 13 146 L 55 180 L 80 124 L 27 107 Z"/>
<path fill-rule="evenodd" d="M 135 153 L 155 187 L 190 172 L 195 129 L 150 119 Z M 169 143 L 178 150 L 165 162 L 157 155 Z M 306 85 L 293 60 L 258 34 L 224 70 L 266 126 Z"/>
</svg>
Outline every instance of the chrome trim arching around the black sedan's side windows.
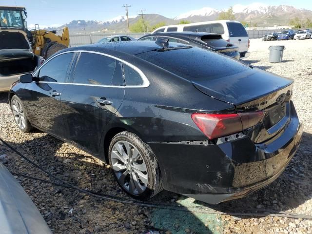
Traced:
<svg viewBox="0 0 312 234">
<path fill-rule="evenodd" d="M 59 53 L 57 55 L 54 55 L 52 57 L 50 57 L 49 59 L 47 59 L 34 73 L 33 76 L 36 76 L 36 74 L 39 72 L 39 70 L 51 59 L 54 59 L 60 55 L 63 54 L 67 54 L 67 53 L 76 53 L 76 52 L 83 52 L 83 53 L 91 53 L 91 54 L 98 54 L 98 55 L 103 55 L 112 59 L 116 59 L 117 61 L 122 62 L 123 64 L 128 65 L 129 67 L 131 67 L 132 69 L 134 69 L 142 78 L 143 83 L 139 84 L 139 85 L 100 85 L 100 84 L 81 84 L 81 83 L 70 83 L 70 82 L 49 82 L 49 81 L 37 81 L 38 83 L 53 83 L 53 84 L 69 84 L 69 85 L 86 85 L 86 86 L 99 86 L 99 87 L 112 87 L 112 88 L 146 88 L 148 86 L 150 86 L 150 81 L 148 80 L 148 78 L 144 75 L 144 73 L 137 68 L 135 65 L 133 65 L 130 62 L 127 62 L 123 59 L 119 59 L 115 56 L 109 55 L 109 54 L 105 54 L 105 53 L 101 53 L 101 52 L 97 52 L 97 51 L 88 51 L 88 50 L 71 50 L 71 51 L 65 51 L 62 53 Z M 36 82 L 36 81 L 33 81 Z"/>
</svg>

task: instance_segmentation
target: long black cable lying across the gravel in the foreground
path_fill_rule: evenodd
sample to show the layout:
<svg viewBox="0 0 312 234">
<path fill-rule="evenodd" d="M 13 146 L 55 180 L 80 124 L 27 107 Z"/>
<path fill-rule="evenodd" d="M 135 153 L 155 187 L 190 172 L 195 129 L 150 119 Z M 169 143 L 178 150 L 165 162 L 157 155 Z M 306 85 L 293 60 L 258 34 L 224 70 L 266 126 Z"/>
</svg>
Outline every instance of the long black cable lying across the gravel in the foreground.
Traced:
<svg viewBox="0 0 312 234">
<path fill-rule="evenodd" d="M 94 197 L 98 197 L 98 198 L 101 198 L 101 199 L 106 199 L 106 200 L 111 200 L 111 201 L 116 201 L 116 202 L 121 202 L 121 203 L 126 203 L 126 204 L 133 204 L 133 205 L 138 205 L 138 206 L 144 206 L 144 207 L 151 207 L 151 208 L 176 210 L 176 211 L 186 211 L 186 212 L 192 211 L 192 212 L 205 213 L 205 214 L 215 214 L 215 215 L 278 216 L 278 217 L 289 217 L 289 218 L 312 219 L 311 215 L 301 215 L 301 214 L 295 214 L 295 213 L 289 213 L 289 212 L 279 212 L 278 214 L 272 214 L 275 211 L 268 211 L 268 210 L 262 210 L 262 213 L 232 213 L 232 212 L 224 213 L 224 212 L 219 212 L 219 211 L 215 211 L 213 209 L 203 208 L 203 207 L 199 207 L 199 206 L 187 207 L 187 206 L 179 206 L 179 205 L 169 205 L 169 204 L 165 204 L 165 203 L 164 204 L 150 203 L 150 202 L 138 201 L 136 199 L 131 199 L 131 198 L 123 198 L 123 197 L 118 197 L 118 196 L 114 196 L 114 195 L 100 194 L 100 193 L 97 193 L 97 192 L 94 192 L 94 191 L 81 189 L 81 188 L 79 188 L 79 187 L 77 187 L 77 186 L 75 186 L 75 185 L 73 185 L 71 183 L 68 183 L 68 182 L 58 178 L 57 176 L 54 176 L 53 174 L 47 172 L 44 168 L 42 168 L 41 166 L 39 166 L 38 164 L 36 164 L 32 160 L 27 158 L 26 156 L 22 155 L 18 150 L 16 150 L 13 146 L 11 146 L 7 142 L 5 142 L 1 137 L 0 137 L 0 141 L 5 146 L 10 148 L 12 151 L 14 151 L 16 154 L 18 154 L 20 157 L 24 158 L 27 162 L 29 162 L 30 164 L 32 164 L 35 167 L 39 168 L 42 172 L 44 172 L 48 176 L 50 176 L 50 177 L 60 181 L 62 184 L 55 183 L 55 182 L 52 182 L 50 180 L 34 177 L 34 176 L 28 176 L 28 175 L 25 175 L 25 174 L 16 173 L 16 172 L 12 172 L 12 174 L 15 174 L 17 176 L 27 177 L 27 178 L 30 178 L 30 179 L 39 180 L 39 181 L 42 181 L 44 183 L 50 183 L 50 184 L 55 185 L 55 186 L 60 186 L 60 187 L 65 187 L 65 188 L 72 188 L 72 189 L 75 189 L 75 190 L 77 190 L 77 191 L 79 191 L 81 193 L 84 193 L 84 194 L 87 194 L 87 195 L 91 195 L 91 196 L 94 196 Z"/>
</svg>

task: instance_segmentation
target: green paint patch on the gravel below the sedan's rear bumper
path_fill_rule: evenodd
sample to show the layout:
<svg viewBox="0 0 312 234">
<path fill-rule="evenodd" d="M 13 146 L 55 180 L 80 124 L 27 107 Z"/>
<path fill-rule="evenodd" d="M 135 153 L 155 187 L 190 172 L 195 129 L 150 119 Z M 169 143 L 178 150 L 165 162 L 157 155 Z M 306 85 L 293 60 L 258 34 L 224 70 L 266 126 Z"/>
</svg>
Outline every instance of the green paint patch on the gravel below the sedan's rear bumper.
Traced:
<svg viewBox="0 0 312 234">
<path fill-rule="evenodd" d="M 176 201 L 181 206 L 206 208 L 204 203 L 198 204 L 193 202 L 193 198 L 186 198 L 185 196 Z M 156 229 L 170 231 L 172 234 L 191 232 L 196 234 L 221 234 L 223 230 L 223 223 L 218 218 L 218 215 L 215 214 L 154 209 L 151 215 L 151 220 Z"/>
</svg>

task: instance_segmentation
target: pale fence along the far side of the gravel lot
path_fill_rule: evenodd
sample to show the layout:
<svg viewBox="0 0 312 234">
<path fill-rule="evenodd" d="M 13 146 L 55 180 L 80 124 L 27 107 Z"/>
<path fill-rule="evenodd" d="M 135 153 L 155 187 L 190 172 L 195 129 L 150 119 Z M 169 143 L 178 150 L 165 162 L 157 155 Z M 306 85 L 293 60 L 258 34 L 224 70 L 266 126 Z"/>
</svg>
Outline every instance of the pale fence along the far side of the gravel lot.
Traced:
<svg viewBox="0 0 312 234">
<path fill-rule="evenodd" d="M 250 39 L 253 38 L 262 38 L 263 35 L 267 35 L 270 33 L 275 33 L 275 32 L 281 32 L 284 31 L 284 29 L 272 29 L 272 30 L 248 30 L 247 33 L 249 35 Z M 143 33 L 129 33 L 129 36 L 133 38 L 140 38 L 144 34 Z M 93 44 L 96 43 L 98 40 L 108 37 L 108 36 L 113 36 L 112 34 L 71 34 L 69 35 L 70 39 L 70 47 L 75 47 L 79 45 L 86 45 L 86 44 Z"/>
</svg>

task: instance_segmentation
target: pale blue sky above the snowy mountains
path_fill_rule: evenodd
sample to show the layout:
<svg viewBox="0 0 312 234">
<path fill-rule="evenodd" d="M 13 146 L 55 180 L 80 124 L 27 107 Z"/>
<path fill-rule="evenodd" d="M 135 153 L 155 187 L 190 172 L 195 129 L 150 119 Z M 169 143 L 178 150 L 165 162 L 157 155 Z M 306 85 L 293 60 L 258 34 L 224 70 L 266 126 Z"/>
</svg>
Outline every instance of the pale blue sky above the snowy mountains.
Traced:
<svg viewBox="0 0 312 234">
<path fill-rule="evenodd" d="M 1 5 L 25 6 L 28 12 L 28 25 L 39 23 L 44 26 L 61 25 L 71 20 L 110 20 L 125 15 L 123 4 L 131 5 L 129 15 L 134 16 L 145 9 L 144 14 L 156 13 L 174 18 L 190 10 L 202 7 L 225 9 L 240 3 L 261 2 L 270 5 L 293 5 L 312 10 L 311 0 L 1 0 Z"/>
</svg>

